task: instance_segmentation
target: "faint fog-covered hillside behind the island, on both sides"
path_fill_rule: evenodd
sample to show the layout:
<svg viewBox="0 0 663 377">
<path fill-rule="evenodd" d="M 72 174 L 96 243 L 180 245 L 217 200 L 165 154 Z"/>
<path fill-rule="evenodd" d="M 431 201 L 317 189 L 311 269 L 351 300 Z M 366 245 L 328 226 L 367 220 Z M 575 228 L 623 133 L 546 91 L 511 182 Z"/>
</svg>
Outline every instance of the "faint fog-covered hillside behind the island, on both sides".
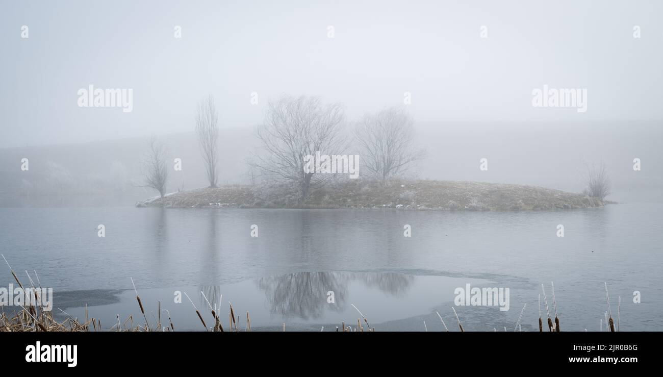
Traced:
<svg viewBox="0 0 663 377">
<path fill-rule="evenodd" d="M 604 161 L 613 184 L 611 200 L 663 201 L 663 151 L 657 122 L 623 123 L 416 123 L 415 142 L 426 148 L 412 179 L 538 185 L 583 189 L 585 163 Z M 597 131 L 600 130 L 600 131 Z M 207 186 L 193 132 L 163 135 L 171 171 L 167 192 Z M 253 127 L 221 129 L 219 183 L 249 183 L 247 158 L 258 147 Z M 70 145 L 0 149 L 0 205 L 132 205 L 154 196 L 139 187 L 147 137 Z M 564 151 L 562 153 L 562 151 Z M 353 152 L 353 146 L 349 147 Z M 634 172 L 633 159 L 643 162 Z M 29 171 L 21 171 L 21 159 Z M 489 169 L 479 170 L 487 158 Z M 361 167 L 360 167 L 361 169 Z M 76 200 L 72 195 L 77 195 Z"/>
</svg>

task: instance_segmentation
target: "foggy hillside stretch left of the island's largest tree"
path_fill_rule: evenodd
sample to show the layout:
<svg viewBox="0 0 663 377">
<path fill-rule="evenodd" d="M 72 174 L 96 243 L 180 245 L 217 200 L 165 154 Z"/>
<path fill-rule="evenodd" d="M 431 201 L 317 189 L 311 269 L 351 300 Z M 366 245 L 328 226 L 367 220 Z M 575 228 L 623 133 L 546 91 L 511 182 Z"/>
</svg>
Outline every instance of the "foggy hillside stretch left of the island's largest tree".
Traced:
<svg viewBox="0 0 663 377">
<path fill-rule="evenodd" d="M 251 127 L 220 129 L 220 183 L 245 183 L 243 159 L 253 143 Z M 167 190 L 206 186 L 198 141 L 193 132 L 164 135 L 170 171 Z M 142 182 L 147 137 L 0 149 L 0 206 L 133 205 L 152 194 Z M 29 170 L 21 171 L 27 158 Z"/>
</svg>

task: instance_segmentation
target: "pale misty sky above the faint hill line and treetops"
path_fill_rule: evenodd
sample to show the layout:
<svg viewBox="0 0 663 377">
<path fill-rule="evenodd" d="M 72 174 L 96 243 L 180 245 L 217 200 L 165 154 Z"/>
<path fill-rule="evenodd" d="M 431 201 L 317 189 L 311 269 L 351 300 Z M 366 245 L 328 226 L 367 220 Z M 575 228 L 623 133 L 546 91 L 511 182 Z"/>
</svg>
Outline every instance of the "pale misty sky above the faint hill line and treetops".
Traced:
<svg viewBox="0 0 663 377">
<path fill-rule="evenodd" d="M 283 93 L 349 120 L 411 92 L 420 122 L 658 121 L 662 16 L 660 1 L 0 0 L 0 147 L 192 131 L 208 94 L 227 128 Z M 90 84 L 133 89 L 133 112 L 79 108 Z M 587 112 L 533 108 L 544 84 L 587 88 Z"/>
</svg>

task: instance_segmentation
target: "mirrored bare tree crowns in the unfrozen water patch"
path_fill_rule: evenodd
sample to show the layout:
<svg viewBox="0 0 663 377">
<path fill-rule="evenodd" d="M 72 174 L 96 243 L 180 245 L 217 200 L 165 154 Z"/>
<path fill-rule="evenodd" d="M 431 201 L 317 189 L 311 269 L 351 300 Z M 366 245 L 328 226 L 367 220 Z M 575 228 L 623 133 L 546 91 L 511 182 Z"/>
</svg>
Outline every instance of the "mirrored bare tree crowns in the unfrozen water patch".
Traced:
<svg viewBox="0 0 663 377">
<path fill-rule="evenodd" d="M 367 287 L 401 295 L 413 280 L 413 276 L 402 273 L 298 272 L 263 277 L 257 284 L 265 291 L 272 313 L 286 318 L 318 319 L 325 309 L 345 310 L 350 281 L 363 281 Z M 328 305 L 328 291 L 333 291 L 335 305 Z"/>
</svg>

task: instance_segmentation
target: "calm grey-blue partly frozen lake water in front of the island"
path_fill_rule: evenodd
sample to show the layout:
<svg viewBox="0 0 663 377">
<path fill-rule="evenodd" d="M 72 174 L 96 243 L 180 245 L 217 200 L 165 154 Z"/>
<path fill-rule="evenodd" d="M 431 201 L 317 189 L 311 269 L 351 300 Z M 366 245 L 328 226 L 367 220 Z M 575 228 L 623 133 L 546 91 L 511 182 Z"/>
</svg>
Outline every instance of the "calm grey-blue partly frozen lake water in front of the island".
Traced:
<svg viewBox="0 0 663 377">
<path fill-rule="evenodd" d="M 471 283 L 509 287 L 510 310 L 455 307 L 465 329 L 512 330 L 527 303 L 522 325 L 532 331 L 540 283 L 552 313 L 554 281 L 562 330 L 597 331 L 607 281 L 613 317 L 622 298 L 621 329 L 661 331 L 662 220 L 663 204 L 645 203 L 512 213 L 0 208 L 0 250 L 19 278 L 27 281 L 27 269 L 34 279 L 34 269 L 54 288 L 56 307 L 82 317 L 88 303 L 107 327 L 115 315 L 140 316 L 133 277 L 148 310 L 156 315 L 160 300 L 176 329 L 202 325 L 186 297 L 174 303 L 174 291 L 186 291 L 211 323 L 203 291 L 212 304 L 223 295 L 222 313 L 233 303 L 241 324 L 248 310 L 255 328 L 331 330 L 356 322 L 354 304 L 379 330 L 423 331 L 426 321 L 440 331 L 440 311 L 455 331 L 453 289 Z M 13 282 L 6 266 L 0 281 Z"/>
</svg>

